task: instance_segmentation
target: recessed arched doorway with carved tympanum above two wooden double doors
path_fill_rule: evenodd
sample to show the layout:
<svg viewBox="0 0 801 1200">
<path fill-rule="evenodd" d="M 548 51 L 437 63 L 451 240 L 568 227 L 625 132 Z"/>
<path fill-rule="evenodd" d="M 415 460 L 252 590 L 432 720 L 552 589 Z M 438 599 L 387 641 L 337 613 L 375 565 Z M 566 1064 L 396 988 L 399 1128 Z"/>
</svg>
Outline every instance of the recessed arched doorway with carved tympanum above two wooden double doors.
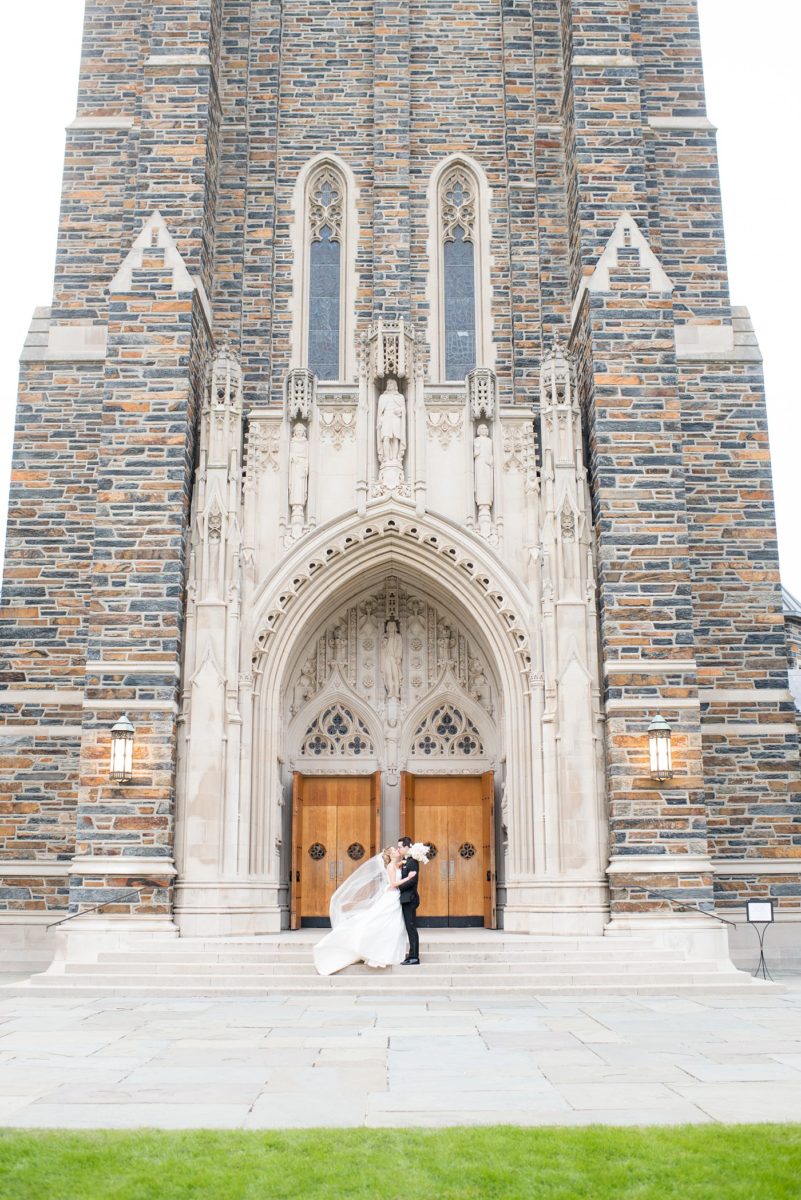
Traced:
<svg viewBox="0 0 801 1200">
<path fill-rule="evenodd" d="M 284 698 L 293 928 L 324 924 L 335 888 L 399 833 L 433 845 L 422 924 L 494 925 L 504 706 L 475 620 L 390 574 L 325 605 Z"/>
</svg>

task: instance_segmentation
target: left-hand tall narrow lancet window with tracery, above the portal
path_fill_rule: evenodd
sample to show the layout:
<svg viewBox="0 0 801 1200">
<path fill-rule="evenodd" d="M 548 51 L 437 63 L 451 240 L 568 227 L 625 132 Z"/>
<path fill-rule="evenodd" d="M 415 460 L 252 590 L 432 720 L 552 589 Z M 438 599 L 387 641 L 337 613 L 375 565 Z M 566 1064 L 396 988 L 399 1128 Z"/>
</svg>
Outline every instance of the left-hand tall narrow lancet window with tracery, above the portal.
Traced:
<svg viewBox="0 0 801 1200">
<path fill-rule="evenodd" d="M 339 172 L 324 163 L 309 179 L 308 353 L 318 379 L 341 377 L 343 307 L 343 229 L 345 186 Z"/>
</svg>

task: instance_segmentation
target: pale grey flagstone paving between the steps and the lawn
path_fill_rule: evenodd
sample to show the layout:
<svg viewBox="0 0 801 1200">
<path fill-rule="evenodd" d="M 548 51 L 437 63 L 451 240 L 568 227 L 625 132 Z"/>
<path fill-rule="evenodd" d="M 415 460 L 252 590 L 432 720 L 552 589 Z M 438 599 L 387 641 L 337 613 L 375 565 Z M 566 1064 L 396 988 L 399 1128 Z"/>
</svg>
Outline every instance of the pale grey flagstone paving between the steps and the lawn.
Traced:
<svg viewBox="0 0 801 1200">
<path fill-rule="evenodd" d="M 801 1121 L 801 979 L 754 996 L 0 1000 L 0 1124 Z"/>
</svg>

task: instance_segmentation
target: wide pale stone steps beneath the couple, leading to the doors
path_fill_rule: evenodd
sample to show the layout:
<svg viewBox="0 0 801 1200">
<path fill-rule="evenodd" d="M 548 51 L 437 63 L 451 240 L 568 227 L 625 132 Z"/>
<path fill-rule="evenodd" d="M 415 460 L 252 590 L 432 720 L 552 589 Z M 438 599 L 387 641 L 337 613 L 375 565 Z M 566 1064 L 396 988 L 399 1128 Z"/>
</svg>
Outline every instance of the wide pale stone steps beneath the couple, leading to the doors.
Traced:
<svg viewBox="0 0 801 1200">
<path fill-rule="evenodd" d="M 770 989 L 735 971 L 728 959 L 689 960 L 646 938 L 529 937 L 502 932 L 424 932 L 418 967 L 371 970 L 356 964 L 337 976 L 314 970 L 321 931 L 254 938 L 174 938 L 104 950 L 95 961 L 54 964 L 5 989 L 31 996 L 314 996 L 494 997 L 664 995 Z"/>
</svg>

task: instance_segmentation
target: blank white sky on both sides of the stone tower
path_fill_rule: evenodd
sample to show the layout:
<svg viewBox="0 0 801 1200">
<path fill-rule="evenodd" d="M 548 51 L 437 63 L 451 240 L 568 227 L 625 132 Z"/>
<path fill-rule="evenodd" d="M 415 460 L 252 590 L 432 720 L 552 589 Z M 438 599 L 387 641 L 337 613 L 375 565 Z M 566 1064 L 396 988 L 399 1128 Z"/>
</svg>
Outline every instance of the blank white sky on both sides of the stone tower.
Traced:
<svg viewBox="0 0 801 1200">
<path fill-rule="evenodd" d="M 64 127 L 74 116 L 83 0 L 6 5 L 0 72 L 0 541 L 5 534 L 17 359 L 50 301 Z M 718 126 L 731 296 L 765 358 L 782 574 L 801 596 L 801 277 L 796 0 L 699 0 L 709 114 Z"/>
</svg>

